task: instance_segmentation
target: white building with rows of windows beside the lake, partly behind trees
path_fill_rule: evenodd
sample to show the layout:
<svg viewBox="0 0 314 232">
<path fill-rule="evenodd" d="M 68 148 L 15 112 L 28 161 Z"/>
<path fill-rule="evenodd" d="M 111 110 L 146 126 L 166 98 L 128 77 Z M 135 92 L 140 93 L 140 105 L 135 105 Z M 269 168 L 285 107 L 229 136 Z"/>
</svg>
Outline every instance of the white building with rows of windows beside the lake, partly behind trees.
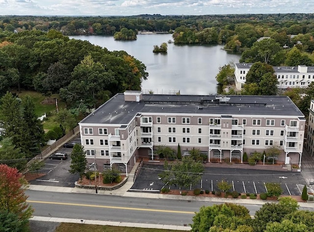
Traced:
<svg viewBox="0 0 314 232">
<path fill-rule="evenodd" d="M 241 90 L 246 81 L 246 74 L 253 63 L 235 64 L 235 86 Z M 298 67 L 273 67 L 278 79 L 278 88 L 308 87 L 314 81 L 314 67 L 299 65 Z"/>
</svg>

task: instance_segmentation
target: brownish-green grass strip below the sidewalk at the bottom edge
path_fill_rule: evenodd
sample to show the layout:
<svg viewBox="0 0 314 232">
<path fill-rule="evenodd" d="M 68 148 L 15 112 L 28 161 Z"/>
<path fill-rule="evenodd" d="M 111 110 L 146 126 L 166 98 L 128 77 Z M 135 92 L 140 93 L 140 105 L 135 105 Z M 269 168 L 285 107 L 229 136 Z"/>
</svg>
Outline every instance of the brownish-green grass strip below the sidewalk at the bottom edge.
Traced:
<svg viewBox="0 0 314 232">
<path fill-rule="evenodd" d="M 183 232 L 174 230 L 161 230 L 150 228 L 137 228 L 137 227 L 118 227 L 118 226 L 100 226 L 76 223 L 61 223 L 55 232 Z"/>
</svg>

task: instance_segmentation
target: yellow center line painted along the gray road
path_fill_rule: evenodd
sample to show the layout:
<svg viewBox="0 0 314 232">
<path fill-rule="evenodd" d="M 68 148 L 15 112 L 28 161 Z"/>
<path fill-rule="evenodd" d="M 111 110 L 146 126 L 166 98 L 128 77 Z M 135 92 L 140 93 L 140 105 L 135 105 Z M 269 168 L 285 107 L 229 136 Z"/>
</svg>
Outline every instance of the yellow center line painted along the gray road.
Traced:
<svg viewBox="0 0 314 232">
<path fill-rule="evenodd" d="M 77 204 L 77 203 L 30 201 L 30 200 L 27 200 L 26 202 L 28 202 L 28 203 L 39 203 L 39 204 L 51 204 L 51 205 L 64 205 L 64 206 L 82 206 L 82 207 L 95 207 L 95 208 L 106 208 L 106 209 L 127 209 L 127 210 L 138 210 L 138 211 L 194 214 L 194 212 L 191 212 L 191 211 L 177 211 L 177 210 L 166 210 L 166 209 L 142 209 L 142 208 L 131 208 L 131 207 L 98 206 L 98 205 L 87 205 L 87 204 Z"/>
</svg>

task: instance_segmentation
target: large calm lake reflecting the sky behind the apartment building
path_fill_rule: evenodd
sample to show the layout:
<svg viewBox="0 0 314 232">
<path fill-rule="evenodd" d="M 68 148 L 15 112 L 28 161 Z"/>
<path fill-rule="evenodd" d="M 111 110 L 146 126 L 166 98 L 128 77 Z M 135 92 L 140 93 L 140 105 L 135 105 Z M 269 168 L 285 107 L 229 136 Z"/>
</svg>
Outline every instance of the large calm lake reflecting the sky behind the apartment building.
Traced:
<svg viewBox="0 0 314 232">
<path fill-rule="evenodd" d="M 172 40 L 171 34 L 139 34 L 135 41 L 116 41 L 112 36 L 69 36 L 87 40 L 108 50 L 125 50 L 147 67 L 149 76 L 142 82 L 144 93 L 214 94 L 218 68 L 237 63 L 240 54 L 222 50 L 223 45 L 168 44 L 167 53 L 153 53 L 154 45 Z"/>
</svg>

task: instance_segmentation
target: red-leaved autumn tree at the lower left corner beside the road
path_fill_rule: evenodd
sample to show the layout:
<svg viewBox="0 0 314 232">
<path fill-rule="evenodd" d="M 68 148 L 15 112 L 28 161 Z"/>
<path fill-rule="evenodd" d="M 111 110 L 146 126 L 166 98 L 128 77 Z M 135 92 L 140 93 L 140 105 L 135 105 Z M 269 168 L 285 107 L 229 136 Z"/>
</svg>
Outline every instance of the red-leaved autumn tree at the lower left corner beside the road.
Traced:
<svg viewBox="0 0 314 232">
<path fill-rule="evenodd" d="M 0 186 L 0 212 L 4 211 L 11 218 L 8 223 L 12 227 L 7 231 L 27 230 L 28 219 L 33 212 L 33 209 L 26 203 L 25 188 L 27 181 L 16 168 L 0 164 Z M 4 224 L 7 228 L 6 221 L 0 221 L 0 225 Z"/>
</svg>

